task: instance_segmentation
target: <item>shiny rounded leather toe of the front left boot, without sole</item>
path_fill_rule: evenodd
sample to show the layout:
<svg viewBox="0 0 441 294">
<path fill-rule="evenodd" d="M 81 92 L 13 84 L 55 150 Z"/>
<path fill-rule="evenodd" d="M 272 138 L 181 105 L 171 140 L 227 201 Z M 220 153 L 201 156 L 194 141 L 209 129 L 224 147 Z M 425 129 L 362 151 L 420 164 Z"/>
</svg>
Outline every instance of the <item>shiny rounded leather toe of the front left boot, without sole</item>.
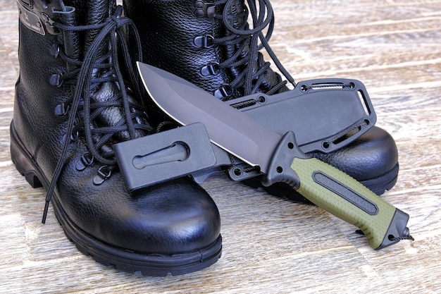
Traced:
<svg viewBox="0 0 441 294">
<path fill-rule="evenodd" d="M 219 238 L 216 204 L 190 178 L 159 183 L 132 195 L 118 173 L 106 182 L 96 186 L 91 180 L 80 195 L 62 200 L 64 217 L 91 238 L 158 255 L 194 252 Z M 62 195 L 72 195 L 75 189 L 69 190 Z"/>
</svg>

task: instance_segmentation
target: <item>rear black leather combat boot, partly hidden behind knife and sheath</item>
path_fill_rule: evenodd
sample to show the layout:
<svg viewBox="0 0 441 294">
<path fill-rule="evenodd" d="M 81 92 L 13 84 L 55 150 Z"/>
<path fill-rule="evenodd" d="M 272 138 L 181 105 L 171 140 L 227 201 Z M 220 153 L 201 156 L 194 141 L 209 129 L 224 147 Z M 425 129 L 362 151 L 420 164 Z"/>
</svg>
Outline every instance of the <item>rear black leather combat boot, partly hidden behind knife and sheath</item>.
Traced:
<svg viewBox="0 0 441 294">
<path fill-rule="evenodd" d="M 295 86 L 268 45 L 273 31 L 269 1 L 260 1 L 259 7 L 260 11 L 268 12 L 267 18 L 256 12 L 254 0 L 247 3 L 248 6 L 243 0 L 124 1 L 127 15 L 141 35 L 144 63 L 179 75 L 223 100 L 256 92 L 278 94 L 288 90 L 287 82 L 263 60 L 258 42 Z M 249 11 L 253 29 L 247 23 Z M 263 36 L 265 27 L 268 31 Z M 265 115 L 264 111 L 261 115 Z M 375 126 L 342 149 L 329 153 L 309 152 L 309 155 L 348 173 L 378 195 L 392 188 L 397 180 L 395 141 L 389 133 Z M 259 182 L 259 178 L 254 178 L 248 184 L 259 185 Z M 282 183 L 272 185 L 268 191 L 304 201 Z"/>
</svg>

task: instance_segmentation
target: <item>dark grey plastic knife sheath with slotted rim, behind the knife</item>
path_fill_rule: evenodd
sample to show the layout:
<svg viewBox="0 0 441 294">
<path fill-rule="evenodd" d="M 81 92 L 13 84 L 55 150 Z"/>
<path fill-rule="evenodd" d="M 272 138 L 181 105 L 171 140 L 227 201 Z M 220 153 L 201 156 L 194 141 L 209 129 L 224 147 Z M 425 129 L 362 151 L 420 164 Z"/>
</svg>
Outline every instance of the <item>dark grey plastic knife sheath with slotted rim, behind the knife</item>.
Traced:
<svg viewBox="0 0 441 294">
<path fill-rule="evenodd" d="M 305 153 L 329 153 L 347 146 L 372 128 L 377 119 L 366 87 L 352 79 L 306 80 L 271 97 L 258 93 L 226 103 L 280 135 L 292 130 Z M 259 174 L 259 169 L 239 159 L 228 170 L 232 180 Z"/>
</svg>

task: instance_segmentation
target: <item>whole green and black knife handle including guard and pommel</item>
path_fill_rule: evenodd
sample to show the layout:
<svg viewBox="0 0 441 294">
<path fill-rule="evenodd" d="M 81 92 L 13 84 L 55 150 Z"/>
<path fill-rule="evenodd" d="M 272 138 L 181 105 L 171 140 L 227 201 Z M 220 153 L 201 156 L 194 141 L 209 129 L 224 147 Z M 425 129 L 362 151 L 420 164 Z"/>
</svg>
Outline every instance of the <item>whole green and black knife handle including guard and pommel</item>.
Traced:
<svg viewBox="0 0 441 294">
<path fill-rule="evenodd" d="M 290 184 L 318 207 L 360 228 L 375 249 L 409 237 L 408 214 L 346 173 L 307 157 L 297 146 L 292 132 L 280 141 L 263 185 L 276 182 Z"/>
</svg>

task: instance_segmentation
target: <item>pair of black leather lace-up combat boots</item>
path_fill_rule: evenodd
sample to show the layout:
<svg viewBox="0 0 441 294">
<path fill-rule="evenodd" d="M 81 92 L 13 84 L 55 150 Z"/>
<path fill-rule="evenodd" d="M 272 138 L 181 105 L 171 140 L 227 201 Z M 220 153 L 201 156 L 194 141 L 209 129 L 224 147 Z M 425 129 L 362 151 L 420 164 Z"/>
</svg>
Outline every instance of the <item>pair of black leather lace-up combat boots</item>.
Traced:
<svg viewBox="0 0 441 294">
<path fill-rule="evenodd" d="M 185 274 L 221 257 L 221 221 L 209 194 L 189 176 L 129 192 L 113 145 L 163 130 L 136 61 L 223 100 L 288 91 L 257 46 L 261 30 L 272 30 L 272 11 L 251 30 L 248 9 L 243 0 L 18 0 L 11 157 L 32 187 L 47 191 L 43 222 L 51 202 L 81 252 L 123 271 Z M 380 128 L 335 152 L 309 154 L 378 194 L 395 185 L 397 149 Z M 294 192 L 288 197 L 302 201 Z"/>
</svg>

